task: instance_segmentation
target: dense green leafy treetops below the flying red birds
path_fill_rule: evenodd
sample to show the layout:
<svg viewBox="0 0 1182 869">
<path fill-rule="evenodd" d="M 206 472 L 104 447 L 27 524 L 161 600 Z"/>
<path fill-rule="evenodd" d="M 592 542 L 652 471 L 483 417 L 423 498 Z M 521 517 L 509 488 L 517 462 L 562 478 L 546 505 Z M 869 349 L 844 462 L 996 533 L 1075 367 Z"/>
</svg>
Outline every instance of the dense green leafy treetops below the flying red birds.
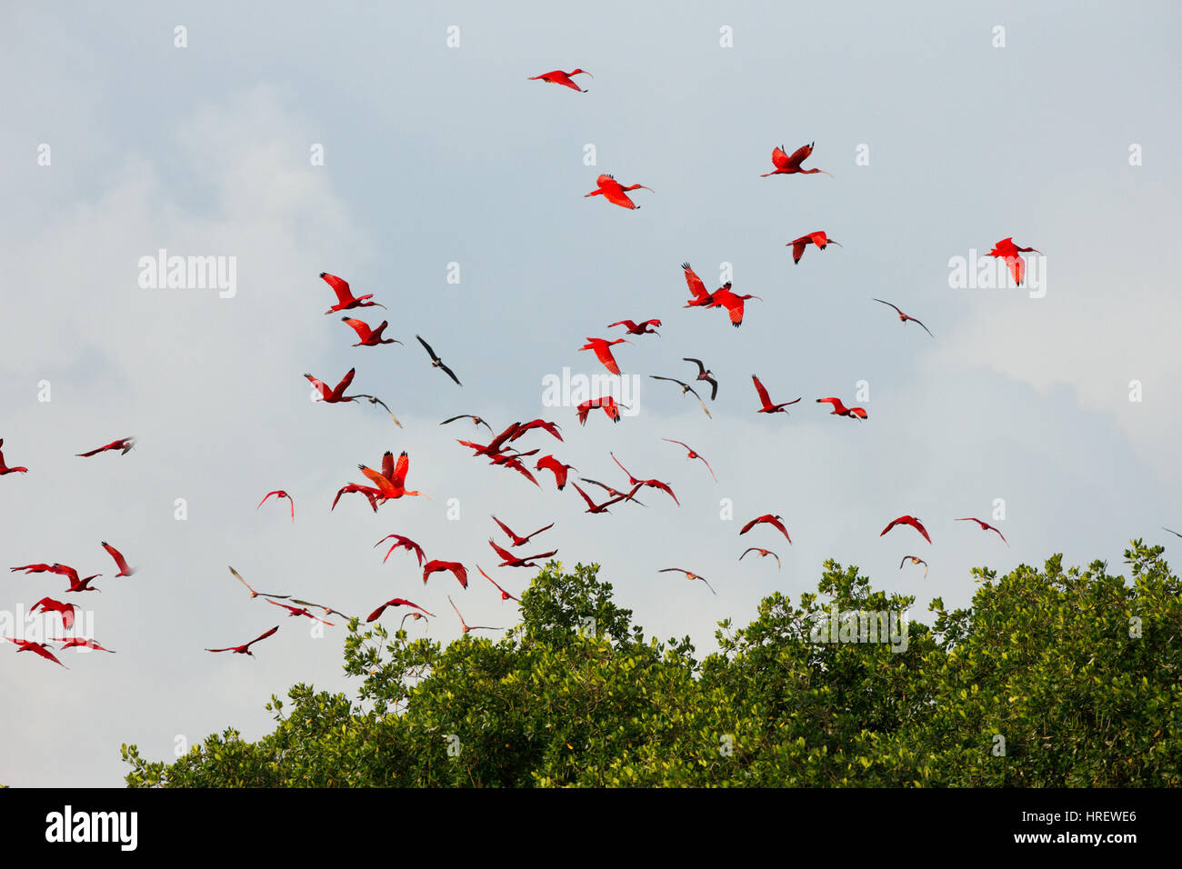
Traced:
<svg viewBox="0 0 1182 869">
<path fill-rule="evenodd" d="M 355 621 L 358 698 L 297 685 L 256 742 L 228 728 L 170 765 L 123 747 L 129 786 L 1129 786 L 1182 784 L 1182 586 L 1134 540 L 1131 583 L 1022 565 L 890 643 L 816 642 L 831 607 L 897 612 L 826 562 L 818 594 L 720 623 L 701 662 L 550 563 L 521 623 L 446 648 Z M 823 599 L 824 598 L 824 599 Z M 1139 628 L 1139 631 L 1138 631 Z M 1139 634 L 1139 635 L 1138 635 Z"/>
</svg>

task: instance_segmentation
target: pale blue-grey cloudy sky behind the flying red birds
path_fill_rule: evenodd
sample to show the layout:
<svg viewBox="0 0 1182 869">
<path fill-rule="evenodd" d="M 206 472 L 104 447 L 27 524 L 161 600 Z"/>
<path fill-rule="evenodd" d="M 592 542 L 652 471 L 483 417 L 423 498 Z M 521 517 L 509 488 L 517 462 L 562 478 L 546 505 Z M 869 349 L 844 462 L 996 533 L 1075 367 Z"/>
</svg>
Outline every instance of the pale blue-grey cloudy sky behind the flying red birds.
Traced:
<svg viewBox="0 0 1182 869">
<path fill-rule="evenodd" d="M 110 575 L 105 539 L 139 572 L 77 601 L 118 654 L 64 653 L 66 672 L 0 649 L 0 782 L 119 785 L 121 742 L 170 758 L 177 734 L 268 731 L 265 701 L 293 682 L 351 690 L 343 628 L 310 638 L 303 620 L 248 599 L 227 564 L 358 615 L 402 595 L 440 615 L 429 636 L 450 638 L 449 592 L 469 623 L 517 621 L 474 570 L 514 592 L 530 576 L 491 570 L 489 513 L 521 533 L 554 520 L 528 551 L 600 563 L 650 634 L 688 634 L 704 654 L 719 620 L 813 590 L 827 557 L 917 595 L 926 617 L 933 596 L 970 601 L 972 566 L 1063 552 L 1115 568 L 1130 537 L 1169 544 L 1158 526 L 1182 524 L 1180 24 L 1168 2 L 4 9 L 0 437 L 30 473 L 0 479 L 2 565 Z M 595 74 L 587 93 L 526 80 L 574 66 Z M 834 177 L 759 177 L 773 147 L 813 141 L 806 166 Z M 324 167 L 310 166 L 312 143 Z M 863 143 L 870 164 L 856 166 Z M 1129 166 L 1132 144 L 1143 166 Z M 600 171 L 655 193 L 637 192 L 634 213 L 584 199 Z M 793 266 L 785 242 L 814 229 L 843 247 Z M 1046 254 L 1045 298 L 949 288 L 949 258 L 1005 236 Z M 139 257 L 161 247 L 236 257 L 238 294 L 139 288 Z M 735 291 L 762 297 L 741 329 L 681 307 L 686 260 L 710 288 L 732 262 Z M 444 281 L 453 261 L 459 285 Z M 323 316 L 320 271 L 376 293 L 407 344 L 351 348 Z M 645 376 L 638 416 L 611 426 L 597 411 L 580 429 L 572 408 L 540 406 L 547 374 L 602 370 L 578 351 L 585 336 L 649 317 L 661 337 L 617 355 Z M 415 333 L 462 389 L 430 370 Z M 683 356 L 720 377 L 713 420 L 647 380 L 686 377 Z M 335 382 L 353 364 L 357 390 L 390 402 L 404 429 L 369 407 L 309 402 L 304 371 Z M 805 401 L 788 419 L 756 415 L 752 372 L 778 401 Z M 866 423 L 813 402 L 856 403 L 859 380 Z M 615 450 L 682 506 L 647 491 L 645 508 L 586 515 L 548 475 L 539 492 L 468 458 L 455 439 L 472 428 L 437 426 L 459 413 L 499 427 L 544 415 L 566 442 L 525 448 L 619 485 Z M 126 456 L 73 458 L 125 435 L 141 439 Z M 661 437 L 693 445 L 719 481 Z M 374 515 L 345 499 L 330 513 L 356 465 L 385 449 L 409 450 L 408 484 L 431 500 Z M 294 497 L 294 526 L 286 504 L 255 511 L 274 488 Z M 722 498 L 734 521 L 720 520 Z M 953 521 L 988 518 L 994 498 L 1009 547 Z M 762 513 L 784 515 L 794 545 L 738 537 Z M 879 538 L 903 513 L 933 545 L 908 528 Z M 437 576 L 424 590 L 410 556 L 383 565 L 371 549 L 392 532 L 479 582 L 461 592 Z M 782 571 L 739 564 L 748 545 L 775 550 Z M 927 579 L 898 571 L 911 552 Z M 719 596 L 656 572 L 668 566 Z M 60 591 L 6 576 L 0 609 Z M 203 651 L 277 623 L 253 661 Z"/>
</svg>

